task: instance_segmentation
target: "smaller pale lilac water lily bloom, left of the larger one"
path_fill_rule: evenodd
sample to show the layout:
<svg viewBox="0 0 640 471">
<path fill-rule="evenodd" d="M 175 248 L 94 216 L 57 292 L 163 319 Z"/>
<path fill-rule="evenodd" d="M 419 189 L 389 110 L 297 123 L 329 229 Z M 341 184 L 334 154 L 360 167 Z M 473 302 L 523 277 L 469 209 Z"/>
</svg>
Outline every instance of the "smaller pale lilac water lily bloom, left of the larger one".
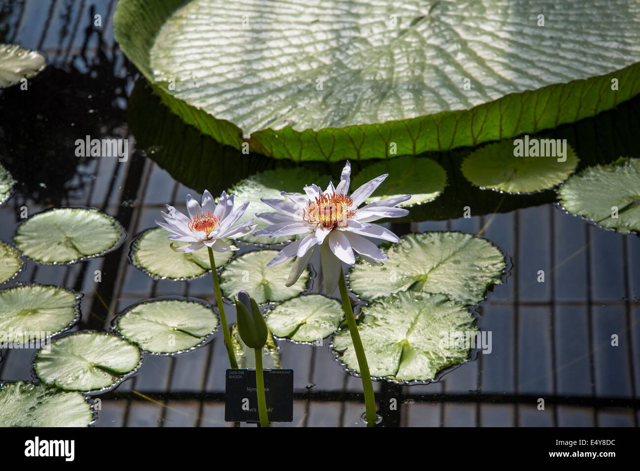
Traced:
<svg viewBox="0 0 640 471">
<path fill-rule="evenodd" d="M 202 207 L 191 195 L 187 195 L 189 217 L 173 206 L 166 205 L 168 214 L 161 211 L 166 222 L 156 221 L 156 224 L 172 232 L 173 235 L 168 237 L 170 241 L 187 243 L 186 246 L 174 248 L 177 251 L 192 252 L 205 245 L 219 252 L 238 250 L 236 246 L 227 244 L 222 239 L 242 237 L 255 229 L 257 224 L 253 223 L 253 219 L 234 226 L 248 205 L 249 202 L 246 202 L 234 211 L 234 195 L 227 196 L 225 191 L 220 195 L 216 205 L 211 193 L 205 190 L 202 195 Z"/>
</svg>

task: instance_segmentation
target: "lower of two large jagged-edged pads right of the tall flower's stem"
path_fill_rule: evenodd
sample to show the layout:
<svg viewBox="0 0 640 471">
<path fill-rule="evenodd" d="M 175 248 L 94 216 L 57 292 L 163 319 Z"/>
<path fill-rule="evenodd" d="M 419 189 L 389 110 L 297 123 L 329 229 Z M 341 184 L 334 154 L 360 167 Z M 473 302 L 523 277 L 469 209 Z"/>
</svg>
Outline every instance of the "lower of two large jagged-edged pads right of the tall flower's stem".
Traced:
<svg viewBox="0 0 640 471">
<path fill-rule="evenodd" d="M 465 362 L 470 346 L 462 338 L 477 331 L 465 305 L 443 294 L 400 292 L 374 301 L 363 313 L 358 331 L 369 372 L 390 381 L 434 379 L 438 371 Z M 340 328 L 332 348 L 348 369 L 360 372 L 348 327 Z"/>
</svg>

